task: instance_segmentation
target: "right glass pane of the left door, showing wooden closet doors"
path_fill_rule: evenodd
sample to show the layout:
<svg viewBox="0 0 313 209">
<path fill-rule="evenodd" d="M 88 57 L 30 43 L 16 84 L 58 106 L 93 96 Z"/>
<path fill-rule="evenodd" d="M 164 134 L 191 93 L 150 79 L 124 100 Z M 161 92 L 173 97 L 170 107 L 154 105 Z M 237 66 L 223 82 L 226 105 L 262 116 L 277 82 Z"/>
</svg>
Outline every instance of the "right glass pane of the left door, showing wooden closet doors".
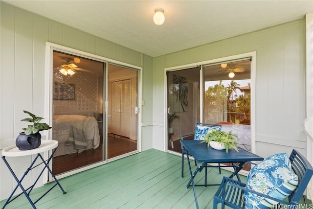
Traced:
<svg viewBox="0 0 313 209">
<path fill-rule="evenodd" d="M 108 159 L 137 150 L 138 71 L 108 65 Z"/>
</svg>

